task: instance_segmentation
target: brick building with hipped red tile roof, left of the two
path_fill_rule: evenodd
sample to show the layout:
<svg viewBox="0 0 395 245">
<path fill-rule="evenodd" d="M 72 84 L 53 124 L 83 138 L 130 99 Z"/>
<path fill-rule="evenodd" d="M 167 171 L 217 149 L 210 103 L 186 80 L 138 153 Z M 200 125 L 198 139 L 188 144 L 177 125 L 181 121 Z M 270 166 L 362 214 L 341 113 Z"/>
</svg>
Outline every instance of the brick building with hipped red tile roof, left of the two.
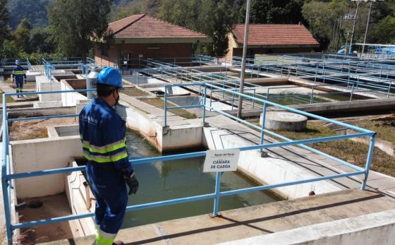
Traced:
<svg viewBox="0 0 395 245">
<path fill-rule="evenodd" d="M 111 43 L 95 43 L 97 64 L 136 68 L 140 59 L 191 57 L 200 43 L 211 42 L 206 35 L 159 20 L 146 14 L 109 23 Z M 121 67 L 122 68 L 122 67 Z"/>
</svg>

